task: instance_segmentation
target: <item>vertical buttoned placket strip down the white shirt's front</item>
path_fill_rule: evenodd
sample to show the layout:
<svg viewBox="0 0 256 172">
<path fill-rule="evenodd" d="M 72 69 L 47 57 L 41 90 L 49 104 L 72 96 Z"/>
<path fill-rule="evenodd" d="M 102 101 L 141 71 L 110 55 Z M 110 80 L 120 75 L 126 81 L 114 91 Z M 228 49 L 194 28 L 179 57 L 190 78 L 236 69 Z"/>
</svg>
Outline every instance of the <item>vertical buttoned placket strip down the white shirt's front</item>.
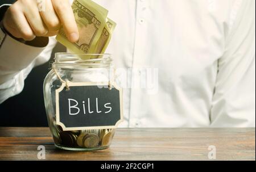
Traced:
<svg viewBox="0 0 256 172">
<path fill-rule="evenodd" d="M 133 70 L 131 75 L 131 92 L 130 92 L 130 115 L 129 127 L 142 127 L 141 113 L 139 111 L 139 102 L 141 102 L 142 90 L 139 86 L 139 79 L 143 69 L 144 51 L 146 51 L 147 36 L 147 8 L 149 0 L 137 0 L 135 34 L 134 34 L 134 51 L 133 51 Z"/>
</svg>

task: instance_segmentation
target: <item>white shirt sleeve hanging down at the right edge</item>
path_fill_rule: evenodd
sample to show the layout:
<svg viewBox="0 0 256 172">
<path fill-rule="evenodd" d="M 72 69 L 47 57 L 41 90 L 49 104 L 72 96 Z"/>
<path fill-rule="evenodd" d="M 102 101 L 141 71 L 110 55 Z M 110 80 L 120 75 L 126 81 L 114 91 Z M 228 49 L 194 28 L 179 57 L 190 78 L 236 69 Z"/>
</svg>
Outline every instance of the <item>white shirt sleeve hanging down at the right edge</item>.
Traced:
<svg viewBox="0 0 256 172">
<path fill-rule="evenodd" d="M 225 52 L 218 60 L 212 127 L 255 127 L 255 0 L 234 6 L 238 10 L 230 16 Z"/>
</svg>

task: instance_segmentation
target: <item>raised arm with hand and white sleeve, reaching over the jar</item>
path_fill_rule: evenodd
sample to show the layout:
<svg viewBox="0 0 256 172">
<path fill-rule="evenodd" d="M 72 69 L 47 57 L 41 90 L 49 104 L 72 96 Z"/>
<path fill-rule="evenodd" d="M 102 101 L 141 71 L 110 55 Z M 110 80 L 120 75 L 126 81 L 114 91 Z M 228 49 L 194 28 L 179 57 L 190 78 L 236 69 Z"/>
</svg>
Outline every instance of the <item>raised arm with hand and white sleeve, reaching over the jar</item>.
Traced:
<svg viewBox="0 0 256 172">
<path fill-rule="evenodd" d="M 68 0 L 42 1 L 42 9 L 36 2 L 18 0 L 9 7 L 1 6 L 5 15 L 0 28 L 0 103 L 19 94 L 32 68 L 48 61 L 56 43 L 51 36 L 61 25 L 70 41 L 79 39 Z"/>
</svg>

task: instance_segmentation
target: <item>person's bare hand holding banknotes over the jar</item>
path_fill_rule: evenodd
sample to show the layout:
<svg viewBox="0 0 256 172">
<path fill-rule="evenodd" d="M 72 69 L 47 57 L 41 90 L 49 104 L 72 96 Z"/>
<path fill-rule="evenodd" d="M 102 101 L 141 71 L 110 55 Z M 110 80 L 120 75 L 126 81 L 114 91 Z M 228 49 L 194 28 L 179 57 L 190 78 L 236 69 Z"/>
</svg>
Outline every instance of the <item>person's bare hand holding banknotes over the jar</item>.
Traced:
<svg viewBox="0 0 256 172">
<path fill-rule="evenodd" d="M 14 37 L 24 40 L 33 40 L 35 36 L 54 36 L 61 25 L 69 41 L 79 39 L 68 0 L 18 0 L 9 7 L 3 18 L 5 29 Z"/>
</svg>

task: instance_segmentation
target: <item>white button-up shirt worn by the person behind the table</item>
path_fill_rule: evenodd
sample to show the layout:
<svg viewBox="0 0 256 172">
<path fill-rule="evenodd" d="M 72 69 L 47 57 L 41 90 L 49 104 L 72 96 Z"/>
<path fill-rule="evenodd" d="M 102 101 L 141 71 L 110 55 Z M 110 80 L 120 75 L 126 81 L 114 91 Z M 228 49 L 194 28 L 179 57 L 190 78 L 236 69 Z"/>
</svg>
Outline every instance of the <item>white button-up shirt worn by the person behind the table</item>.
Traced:
<svg viewBox="0 0 256 172">
<path fill-rule="evenodd" d="M 124 89 L 122 127 L 255 127 L 254 0 L 96 2 L 117 23 L 106 51 L 116 68 L 140 69 L 127 81 L 158 69 L 154 93 Z M 0 102 L 22 91 L 55 43 L 36 48 L 6 36 Z"/>
</svg>

